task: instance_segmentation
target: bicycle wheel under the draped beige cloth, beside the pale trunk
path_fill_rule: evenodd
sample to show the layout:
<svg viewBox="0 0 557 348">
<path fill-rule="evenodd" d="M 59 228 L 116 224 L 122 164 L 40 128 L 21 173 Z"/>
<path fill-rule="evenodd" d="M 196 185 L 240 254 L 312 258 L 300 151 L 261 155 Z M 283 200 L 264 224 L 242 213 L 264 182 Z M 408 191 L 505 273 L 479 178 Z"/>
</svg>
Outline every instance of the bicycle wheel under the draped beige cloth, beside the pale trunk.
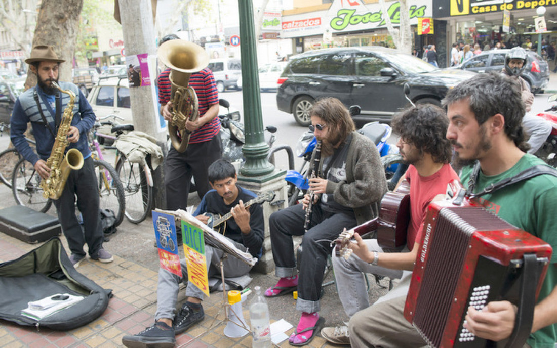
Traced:
<svg viewBox="0 0 557 348">
<path fill-rule="evenodd" d="M 153 202 L 153 188 L 147 183 L 145 169 L 121 155 L 116 171 L 126 195 L 126 218 L 130 222 L 140 223 L 149 214 Z"/>
</svg>

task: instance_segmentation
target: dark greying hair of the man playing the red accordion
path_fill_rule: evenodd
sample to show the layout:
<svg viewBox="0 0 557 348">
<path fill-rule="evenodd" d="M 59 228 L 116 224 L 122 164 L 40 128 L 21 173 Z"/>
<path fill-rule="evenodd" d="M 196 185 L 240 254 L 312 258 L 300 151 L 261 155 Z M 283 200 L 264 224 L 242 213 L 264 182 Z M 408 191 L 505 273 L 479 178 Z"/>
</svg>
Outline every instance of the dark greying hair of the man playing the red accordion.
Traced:
<svg viewBox="0 0 557 348">
<path fill-rule="evenodd" d="M 481 73 L 461 82 L 444 97 L 444 107 L 461 100 L 468 100 L 470 110 L 481 126 L 496 114 L 505 119 L 505 134 L 517 148 L 527 151 L 530 145 L 522 129 L 522 117 L 526 113 L 522 102 L 520 85 L 502 73 Z"/>
</svg>

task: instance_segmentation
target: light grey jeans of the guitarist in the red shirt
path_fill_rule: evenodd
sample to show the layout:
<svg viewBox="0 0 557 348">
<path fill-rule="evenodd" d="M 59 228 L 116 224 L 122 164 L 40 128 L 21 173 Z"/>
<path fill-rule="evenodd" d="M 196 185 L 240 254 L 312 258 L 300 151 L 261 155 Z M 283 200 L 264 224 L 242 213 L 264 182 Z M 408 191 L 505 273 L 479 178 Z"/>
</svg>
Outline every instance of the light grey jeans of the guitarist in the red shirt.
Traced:
<svg viewBox="0 0 557 348">
<path fill-rule="evenodd" d="M 383 252 L 377 239 L 364 239 L 364 243 L 370 252 Z M 404 247 L 403 252 L 408 252 L 408 248 Z M 402 276 L 402 271 L 399 269 L 372 266 L 356 254 L 352 254 L 347 260 L 344 257 L 336 257 L 333 252 L 332 260 L 340 302 L 349 317 L 369 307 L 368 290 L 363 273 L 372 273 L 391 279 Z"/>
</svg>

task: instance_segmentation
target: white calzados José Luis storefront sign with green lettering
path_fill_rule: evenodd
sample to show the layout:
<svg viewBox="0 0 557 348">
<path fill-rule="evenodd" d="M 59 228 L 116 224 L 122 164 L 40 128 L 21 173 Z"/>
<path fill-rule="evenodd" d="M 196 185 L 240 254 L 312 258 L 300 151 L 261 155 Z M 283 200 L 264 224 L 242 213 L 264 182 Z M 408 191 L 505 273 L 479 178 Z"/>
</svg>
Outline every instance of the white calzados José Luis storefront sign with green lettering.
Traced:
<svg viewBox="0 0 557 348">
<path fill-rule="evenodd" d="M 557 1 L 557 0 L 556 0 Z M 325 11 L 293 14 L 282 17 L 281 38 L 386 28 L 389 16 L 394 26 L 400 23 L 400 3 L 386 1 L 387 12 L 379 3 L 364 4 L 362 0 L 335 0 Z M 411 24 L 418 18 L 432 17 L 431 0 L 416 0 L 408 5 Z"/>
</svg>

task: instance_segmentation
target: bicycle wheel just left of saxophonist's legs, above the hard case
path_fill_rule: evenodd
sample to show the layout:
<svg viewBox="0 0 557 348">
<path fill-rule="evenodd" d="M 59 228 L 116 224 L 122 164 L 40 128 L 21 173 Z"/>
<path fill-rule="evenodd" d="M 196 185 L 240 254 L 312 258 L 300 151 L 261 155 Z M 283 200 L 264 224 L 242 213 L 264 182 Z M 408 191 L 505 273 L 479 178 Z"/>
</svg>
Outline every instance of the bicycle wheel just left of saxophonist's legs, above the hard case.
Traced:
<svg viewBox="0 0 557 348">
<path fill-rule="evenodd" d="M 42 197 L 41 177 L 33 165 L 21 159 L 12 173 L 12 193 L 17 204 L 46 213 L 52 200 Z"/>
</svg>

